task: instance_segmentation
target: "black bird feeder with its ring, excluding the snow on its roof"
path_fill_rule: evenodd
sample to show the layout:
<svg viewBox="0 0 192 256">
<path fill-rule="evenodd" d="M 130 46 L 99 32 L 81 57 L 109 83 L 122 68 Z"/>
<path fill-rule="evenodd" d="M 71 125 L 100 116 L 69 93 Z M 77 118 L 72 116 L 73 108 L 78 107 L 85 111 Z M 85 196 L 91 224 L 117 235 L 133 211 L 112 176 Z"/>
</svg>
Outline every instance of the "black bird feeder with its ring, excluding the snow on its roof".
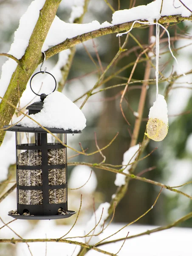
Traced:
<svg viewBox="0 0 192 256">
<path fill-rule="evenodd" d="M 39 96 L 41 101 L 27 107 L 29 115 L 42 110 L 43 100 L 47 95 L 43 93 Z M 52 135 L 41 127 L 6 125 L 4 128 L 6 131 L 16 132 L 17 211 L 10 211 L 8 215 L 18 219 L 37 220 L 68 218 L 76 213 L 68 210 L 65 145 L 67 134 L 81 131 L 47 128 Z"/>
</svg>

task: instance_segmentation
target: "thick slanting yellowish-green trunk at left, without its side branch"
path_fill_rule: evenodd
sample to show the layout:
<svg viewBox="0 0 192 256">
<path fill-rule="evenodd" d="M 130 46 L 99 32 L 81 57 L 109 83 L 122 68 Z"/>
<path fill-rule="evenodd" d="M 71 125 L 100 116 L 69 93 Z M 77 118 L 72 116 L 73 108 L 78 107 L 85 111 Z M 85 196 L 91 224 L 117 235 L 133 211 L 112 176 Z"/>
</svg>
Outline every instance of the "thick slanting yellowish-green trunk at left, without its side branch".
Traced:
<svg viewBox="0 0 192 256">
<path fill-rule="evenodd" d="M 42 61 L 42 45 L 48 34 L 51 23 L 56 15 L 57 8 L 61 0 L 46 0 L 44 6 L 40 10 L 40 16 L 32 32 L 28 47 L 23 57 L 19 60 L 16 70 L 14 71 L 8 89 L 4 95 L 4 99 L 17 106 L 26 84 Z M 19 83 L 19 90 L 18 90 Z M 2 101 L 0 103 L 0 127 L 10 122 L 15 109 Z M 0 131 L 0 145 L 3 142 L 5 131 Z"/>
</svg>

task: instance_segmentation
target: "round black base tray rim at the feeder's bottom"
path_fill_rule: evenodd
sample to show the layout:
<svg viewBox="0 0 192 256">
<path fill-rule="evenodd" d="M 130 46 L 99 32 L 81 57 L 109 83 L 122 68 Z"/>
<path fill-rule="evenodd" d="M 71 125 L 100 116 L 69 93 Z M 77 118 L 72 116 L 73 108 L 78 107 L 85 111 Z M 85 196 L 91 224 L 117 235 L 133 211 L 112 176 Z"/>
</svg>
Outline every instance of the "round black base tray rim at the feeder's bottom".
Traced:
<svg viewBox="0 0 192 256">
<path fill-rule="evenodd" d="M 8 213 L 9 216 L 16 218 L 16 219 L 21 219 L 21 220 L 56 220 L 56 219 L 61 219 L 61 218 L 69 218 L 71 215 L 75 214 L 76 212 L 74 211 L 67 211 L 67 214 L 59 214 L 59 215 L 16 215 L 16 214 L 11 214 Z"/>
</svg>

